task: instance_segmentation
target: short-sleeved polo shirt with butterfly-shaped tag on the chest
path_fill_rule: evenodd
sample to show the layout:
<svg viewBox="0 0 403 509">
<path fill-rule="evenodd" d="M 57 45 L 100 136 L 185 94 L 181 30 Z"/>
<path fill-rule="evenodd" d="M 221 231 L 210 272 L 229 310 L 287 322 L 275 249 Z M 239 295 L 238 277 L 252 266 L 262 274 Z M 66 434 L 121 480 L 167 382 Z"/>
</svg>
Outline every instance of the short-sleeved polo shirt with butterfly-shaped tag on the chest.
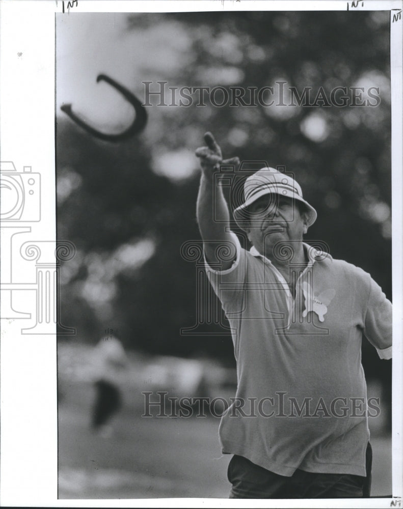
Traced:
<svg viewBox="0 0 403 509">
<path fill-rule="evenodd" d="M 254 247 L 241 248 L 227 270 L 206 262 L 207 276 L 228 318 L 237 363 L 237 391 L 223 414 L 224 454 L 291 476 L 307 472 L 366 475 L 368 415 L 361 364 L 365 334 L 381 358 L 392 353 L 392 306 L 362 269 L 304 243 L 305 268 L 295 298 Z"/>
</svg>

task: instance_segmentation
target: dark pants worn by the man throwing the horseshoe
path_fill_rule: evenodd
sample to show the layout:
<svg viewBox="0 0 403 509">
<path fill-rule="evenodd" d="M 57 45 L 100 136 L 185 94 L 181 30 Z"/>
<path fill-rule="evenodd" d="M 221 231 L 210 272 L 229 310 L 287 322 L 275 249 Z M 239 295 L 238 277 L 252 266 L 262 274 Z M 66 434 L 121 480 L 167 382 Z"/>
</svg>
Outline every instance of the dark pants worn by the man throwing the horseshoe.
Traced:
<svg viewBox="0 0 403 509">
<path fill-rule="evenodd" d="M 366 477 L 295 470 L 291 477 L 259 467 L 234 455 L 228 465 L 229 498 L 367 498 L 371 490 L 372 449 L 368 443 Z"/>
</svg>

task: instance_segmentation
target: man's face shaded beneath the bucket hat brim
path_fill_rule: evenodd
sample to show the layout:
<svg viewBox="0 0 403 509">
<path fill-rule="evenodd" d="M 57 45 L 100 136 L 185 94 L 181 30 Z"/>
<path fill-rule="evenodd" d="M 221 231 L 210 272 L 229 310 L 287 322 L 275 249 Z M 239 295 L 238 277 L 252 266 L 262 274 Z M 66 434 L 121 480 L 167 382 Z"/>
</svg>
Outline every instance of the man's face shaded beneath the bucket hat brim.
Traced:
<svg viewBox="0 0 403 509">
<path fill-rule="evenodd" d="M 248 211 L 248 238 L 267 257 L 273 256 L 273 247 L 278 242 L 292 247 L 294 242 L 302 241 L 308 230 L 308 215 L 286 196 L 266 194 L 250 205 Z"/>
</svg>

